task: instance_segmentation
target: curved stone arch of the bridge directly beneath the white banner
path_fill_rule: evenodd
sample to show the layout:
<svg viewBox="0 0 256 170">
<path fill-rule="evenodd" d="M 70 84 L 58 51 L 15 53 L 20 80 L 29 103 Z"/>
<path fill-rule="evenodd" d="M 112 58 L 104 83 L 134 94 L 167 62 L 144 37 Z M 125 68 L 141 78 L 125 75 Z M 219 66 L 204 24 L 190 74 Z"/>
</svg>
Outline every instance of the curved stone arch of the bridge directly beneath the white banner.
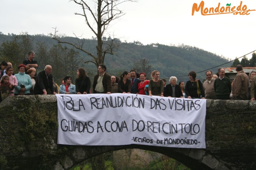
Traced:
<svg viewBox="0 0 256 170">
<path fill-rule="evenodd" d="M 94 148 L 94 149 L 93 149 Z M 87 155 L 86 152 L 93 149 L 94 154 Z M 85 161 L 88 158 L 103 154 L 105 152 L 121 150 L 121 149 L 143 149 L 158 152 L 167 155 L 186 165 L 190 169 L 229 169 L 218 159 L 208 154 L 204 149 L 187 149 L 187 148 L 168 148 L 165 147 L 149 147 L 146 145 L 123 145 L 108 147 L 77 147 L 73 150 L 72 156 L 67 156 L 62 161 L 55 164 L 55 169 L 69 169 L 70 167 Z"/>
</svg>

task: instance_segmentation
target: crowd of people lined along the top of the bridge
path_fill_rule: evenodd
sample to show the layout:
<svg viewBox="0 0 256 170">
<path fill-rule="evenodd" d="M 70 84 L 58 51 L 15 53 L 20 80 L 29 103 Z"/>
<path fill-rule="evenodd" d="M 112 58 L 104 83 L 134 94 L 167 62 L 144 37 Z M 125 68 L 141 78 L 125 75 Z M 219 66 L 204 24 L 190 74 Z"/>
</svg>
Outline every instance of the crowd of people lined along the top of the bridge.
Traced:
<svg viewBox="0 0 256 170">
<path fill-rule="evenodd" d="M 201 98 L 221 100 L 255 100 L 256 72 L 252 70 L 247 76 L 242 65 L 236 66 L 237 75 L 233 81 L 225 77 L 224 68 L 218 69 L 218 75 L 206 71 L 206 81 L 203 83 L 196 79 L 196 72 L 188 73 L 189 81 L 179 82 L 177 77 L 171 76 L 169 84 L 160 79 L 160 72 L 154 70 L 151 80 L 146 79 L 145 73 L 136 73 L 136 70 L 124 71 L 120 75 L 110 76 L 106 73 L 107 67 L 99 64 L 98 74 L 95 75 L 91 89 L 91 81 L 84 68 L 77 69 L 75 85 L 71 83 L 72 77 L 65 76 L 58 86 L 51 75 L 52 67 L 46 65 L 44 70 L 37 74 L 37 61 L 34 52 L 28 53 L 28 58 L 18 66 L 19 72 L 13 74 L 11 63 L 1 62 L 0 91 L 8 96 L 14 95 L 47 95 L 47 94 L 90 94 L 90 93 L 123 93 L 140 94 L 148 96 Z"/>
</svg>

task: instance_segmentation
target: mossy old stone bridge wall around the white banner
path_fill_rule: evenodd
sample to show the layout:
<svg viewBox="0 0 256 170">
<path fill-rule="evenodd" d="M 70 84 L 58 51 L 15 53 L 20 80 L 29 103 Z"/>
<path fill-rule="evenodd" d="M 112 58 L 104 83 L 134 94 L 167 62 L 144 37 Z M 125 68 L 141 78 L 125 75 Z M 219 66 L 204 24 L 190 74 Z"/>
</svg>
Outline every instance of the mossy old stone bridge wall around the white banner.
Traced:
<svg viewBox="0 0 256 170">
<path fill-rule="evenodd" d="M 147 145 L 57 145 L 54 95 L 8 97 L 0 104 L 0 169 L 69 169 L 108 151 L 159 152 L 191 169 L 256 169 L 256 101 L 207 100 L 206 149 Z"/>
</svg>

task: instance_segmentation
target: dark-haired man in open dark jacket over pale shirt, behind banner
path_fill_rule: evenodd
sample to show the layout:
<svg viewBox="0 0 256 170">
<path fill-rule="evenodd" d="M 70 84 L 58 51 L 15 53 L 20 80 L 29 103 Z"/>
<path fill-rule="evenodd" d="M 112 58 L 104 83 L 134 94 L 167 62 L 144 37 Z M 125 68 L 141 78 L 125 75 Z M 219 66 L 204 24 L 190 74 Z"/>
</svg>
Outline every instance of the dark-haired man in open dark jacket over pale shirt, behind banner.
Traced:
<svg viewBox="0 0 256 170">
<path fill-rule="evenodd" d="M 111 76 L 105 71 L 107 67 L 104 64 L 99 64 L 98 72 L 94 77 L 92 89 L 93 93 L 104 93 L 104 94 L 111 94 L 112 86 L 111 86 Z"/>
</svg>

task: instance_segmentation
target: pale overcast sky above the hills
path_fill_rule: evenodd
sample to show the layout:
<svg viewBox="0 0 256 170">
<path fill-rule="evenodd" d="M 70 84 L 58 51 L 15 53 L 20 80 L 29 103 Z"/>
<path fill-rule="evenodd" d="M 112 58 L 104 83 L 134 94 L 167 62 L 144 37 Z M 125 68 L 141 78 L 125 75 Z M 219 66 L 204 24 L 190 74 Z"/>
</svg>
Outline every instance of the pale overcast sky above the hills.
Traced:
<svg viewBox="0 0 256 170">
<path fill-rule="evenodd" d="M 230 59 L 256 50 L 256 11 L 249 15 L 218 14 L 203 16 L 195 12 L 201 0 L 138 0 L 126 2 L 119 9 L 126 14 L 109 27 L 105 36 L 115 35 L 127 42 L 144 45 L 195 46 Z M 240 0 L 204 0 L 205 7 L 239 6 Z M 256 9 L 255 0 L 243 0 L 242 6 Z M 81 7 L 69 0 L 0 0 L 0 32 L 49 34 L 57 27 L 68 36 L 91 38 L 95 35 L 85 24 Z M 251 54 L 247 55 L 250 59 Z"/>
</svg>

